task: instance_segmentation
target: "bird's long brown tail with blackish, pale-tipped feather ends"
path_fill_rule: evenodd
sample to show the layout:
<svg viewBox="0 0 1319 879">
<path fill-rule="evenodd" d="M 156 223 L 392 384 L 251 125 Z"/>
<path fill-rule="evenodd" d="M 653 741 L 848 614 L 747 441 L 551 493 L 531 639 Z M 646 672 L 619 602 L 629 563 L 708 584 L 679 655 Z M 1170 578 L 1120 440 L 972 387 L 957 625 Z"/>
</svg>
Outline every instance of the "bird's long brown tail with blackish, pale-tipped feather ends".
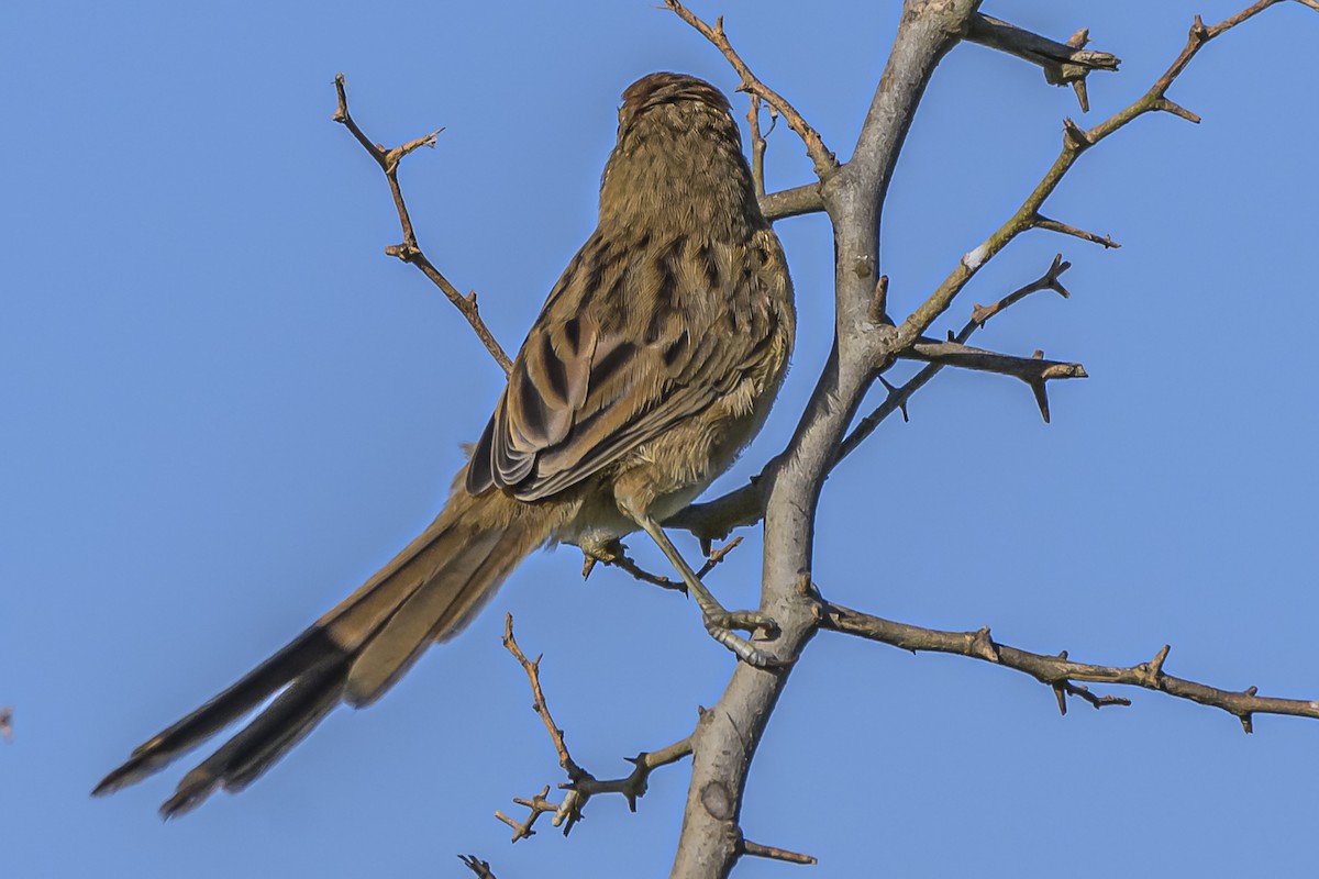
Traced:
<svg viewBox="0 0 1319 879">
<path fill-rule="evenodd" d="M 183 776 L 161 807 L 166 818 L 216 787 L 240 791 L 265 772 L 340 701 L 379 698 L 435 639 L 454 635 L 554 525 L 549 506 L 500 492 L 462 489 L 393 561 L 281 651 L 183 720 L 136 749 L 94 795 L 164 768 L 280 691 L 256 718 Z"/>
</svg>

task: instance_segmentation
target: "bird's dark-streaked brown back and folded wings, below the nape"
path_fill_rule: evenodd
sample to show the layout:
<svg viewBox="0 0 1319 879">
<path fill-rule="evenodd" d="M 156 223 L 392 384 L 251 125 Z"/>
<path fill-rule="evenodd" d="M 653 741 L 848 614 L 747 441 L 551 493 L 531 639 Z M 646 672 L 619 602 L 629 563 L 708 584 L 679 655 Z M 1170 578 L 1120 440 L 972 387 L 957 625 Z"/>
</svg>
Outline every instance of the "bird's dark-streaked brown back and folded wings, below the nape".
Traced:
<svg viewBox="0 0 1319 879">
<path fill-rule="evenodd" d="M 687 236 L 623 248 L 596 232 L 522 343 L 468 490 L 547 497 L 728 393 L 769 335 L 760 268 L 774 256 Z"/>
</svg>

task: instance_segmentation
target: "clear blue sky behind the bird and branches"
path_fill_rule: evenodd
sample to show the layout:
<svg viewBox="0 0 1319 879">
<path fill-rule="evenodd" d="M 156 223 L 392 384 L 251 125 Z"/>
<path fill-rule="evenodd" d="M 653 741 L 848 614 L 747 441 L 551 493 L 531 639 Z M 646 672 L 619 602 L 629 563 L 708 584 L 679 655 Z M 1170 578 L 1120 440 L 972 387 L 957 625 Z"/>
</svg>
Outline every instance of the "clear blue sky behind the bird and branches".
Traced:
<svg viewBox="0 0 1319 879">
<path fill-rule="evenodd" d="M 1092 29 L 1122 72 L 1093 124 L 1183 45 L 1194 12 L 1244 0 L 996 0 L 1066 38 Z M 695 3 L 847 158 L 897 3 Z M 402 183 L 422 246 L 516 348 L 595 224 L 624 87 L 652 70 L 737 80 L 646 0 L 576 4 L 8 4 L 0 138 L 0 870 L 8 876 L 667 874 L 687 764 L 629 814 L 590 804 L 568 839 L 508 845 L 491 816 L 562 775 L 514 660 L 528 654 L 579 763 L 682 738 L 731 655 L 696 609 L 568 548 L 529 560 L 456 642 L 379 705 L 339 710 L 240 796 L 162 824 L 193 763 L 107 800 L 132 747 L 248 671 L 438 511 L 501 373 L 413 268 L 376 166 L 330 116 L 348 76 L 371 137 L 441 125 Z M 1088 153 L 1046 206 L 1111 233 L 1037 232 L 972 303 L 1057 252 L 1071 300 L 1041 294 L 976 343 L 1082 361 L 1053 424 L 1020 382 L 944 372 L 828 482 L 815 580 L 919 625 L 1319 697 L 1314 535 L 1319 17 L 1282 4 L 1211 43 L 1171 96 Z M 735 100 L 737 113 L 744 99 Z M 1058 150 L 1070 90 L 979 46 L 939 67 L 882 229 L 901 318 L 993 231 Z M 769 184 L 811 179 L 786 128 Z M 778 224 L 801 327 L 761 439 L 783 447 L 830 345 L 823 216 Z M 897 372 L 897 370 L 896 370 Z M 897 377 L 897 376 L 894 376 Z M 873 395 L 874 403 L 882 391 Z M 757 532 L 711 577 L 756 604 Z M 683 538 L 682 546 L 695 552 Z M 656 553 L 638 555 L 656 561 Z M 1103 689 L 1103 688 L 1099 688 Z M 1109 691 L 1104 691 L 1109 692 Z M 1150 692 L 1072 704 L 1020 673 L 820 634 L 752 770 L 749 838 L 820 858 L 811 876 L 1304 875 L 1319 722 Z M 744 861 L 737 876 L 801 867 Z"/>
</svg>

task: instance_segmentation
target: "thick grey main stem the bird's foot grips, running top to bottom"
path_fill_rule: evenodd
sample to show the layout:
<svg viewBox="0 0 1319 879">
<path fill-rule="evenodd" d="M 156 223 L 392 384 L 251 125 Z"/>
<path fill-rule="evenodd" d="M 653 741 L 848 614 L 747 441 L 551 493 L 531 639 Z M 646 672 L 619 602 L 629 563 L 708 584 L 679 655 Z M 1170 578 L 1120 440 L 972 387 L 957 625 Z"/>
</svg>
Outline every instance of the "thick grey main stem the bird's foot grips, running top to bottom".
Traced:
<svg viewBox="0 0 1319 879">
<path fill-rule="evenodd" d="M 864 149 L 822 183 L 838 242 L 835 281 L 843 278 L 847 286 L 836 291 L 835 351 L 797 432 L 762 480 L 769 499 L 760 610 L 778 623 L 780 635 L 768 644 L 780 662 L 791 663 L 818 627 L 813 602 L 801 590 L 802 572 L 810 569 L 820 486 L 873 374 L 874 340 L 868 328 L 874 324 L 867 312 L 878 277 L 877 220 L 885 186 L 934 67 L 975 5 L 976 0 L 907 0 L 863 127 Z M 691 784 L 673 875 L 727 876 L 743 854 L 739 818 L 747 772 L 789 675 L 790 666 L 762 669 L 739 663 L 718 705 L 702 716 L 692 735 Z"/>
</svg>

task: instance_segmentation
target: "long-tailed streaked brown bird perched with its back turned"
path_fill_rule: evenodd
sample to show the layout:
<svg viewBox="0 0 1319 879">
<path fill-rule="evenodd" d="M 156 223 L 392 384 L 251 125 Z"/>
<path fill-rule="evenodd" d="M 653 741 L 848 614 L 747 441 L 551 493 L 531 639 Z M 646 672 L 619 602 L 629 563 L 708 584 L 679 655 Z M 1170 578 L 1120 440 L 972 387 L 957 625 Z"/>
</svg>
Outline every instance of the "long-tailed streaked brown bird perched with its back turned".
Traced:
<svg viewBox="0 0 1319 879">
<path fill-rule="evenodd" d="M 728 99 L 679 74 L 633 83 L 599 224 L 550 291 L 439 517 L 291 643 L 135 750 L 94 793 L 162 768 L 278 693 L 183 776 L 161 814 L 186 812 L 220 785 L 247 787 L 335 705 L 379 698 L 546 543 L 600 552 L 644 530 L 710 633 L 764 664 L 731 630 L 772 623 L 725 611 L 658 523 L 760 430 L 794 323 L 787 265 L 756 202 Z"/>
</svg>

